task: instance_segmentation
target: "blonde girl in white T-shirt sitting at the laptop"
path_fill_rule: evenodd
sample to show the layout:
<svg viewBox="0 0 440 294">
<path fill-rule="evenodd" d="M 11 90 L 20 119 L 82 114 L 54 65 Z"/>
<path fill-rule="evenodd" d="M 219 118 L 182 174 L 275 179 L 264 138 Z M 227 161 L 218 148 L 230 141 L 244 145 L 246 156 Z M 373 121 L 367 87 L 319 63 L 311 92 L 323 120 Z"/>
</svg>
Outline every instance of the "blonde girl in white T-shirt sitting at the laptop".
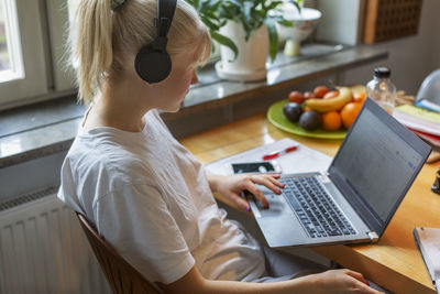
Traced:
<svg viewBox="0 0 440 294">
<path fill-rule="evenodd" d="M 155 0 L 80 2 L 72 56 L 79 97 L 91 104 L 63 164 L 58 197 L 166 293 L 378 293 L 349 270 L 304 275 L 322 269 L 262 249 L 218 208 L 212 192 L 249 211 L 243 189 L 267 205 L 255 184 L 277 194 L 283 184 L 276 175 L 206 175 L 168 132 L 157 110 L 179 109 L 211 41 L 195 10 L 178 0 L 168 44 L 153 45 L 165 43 L 170 73 L 145 81 L 139 73 L 163 69 L 155 57 L 146 69 L 136 59 L 157 37 L 156 11 Z"/>
</svg>

